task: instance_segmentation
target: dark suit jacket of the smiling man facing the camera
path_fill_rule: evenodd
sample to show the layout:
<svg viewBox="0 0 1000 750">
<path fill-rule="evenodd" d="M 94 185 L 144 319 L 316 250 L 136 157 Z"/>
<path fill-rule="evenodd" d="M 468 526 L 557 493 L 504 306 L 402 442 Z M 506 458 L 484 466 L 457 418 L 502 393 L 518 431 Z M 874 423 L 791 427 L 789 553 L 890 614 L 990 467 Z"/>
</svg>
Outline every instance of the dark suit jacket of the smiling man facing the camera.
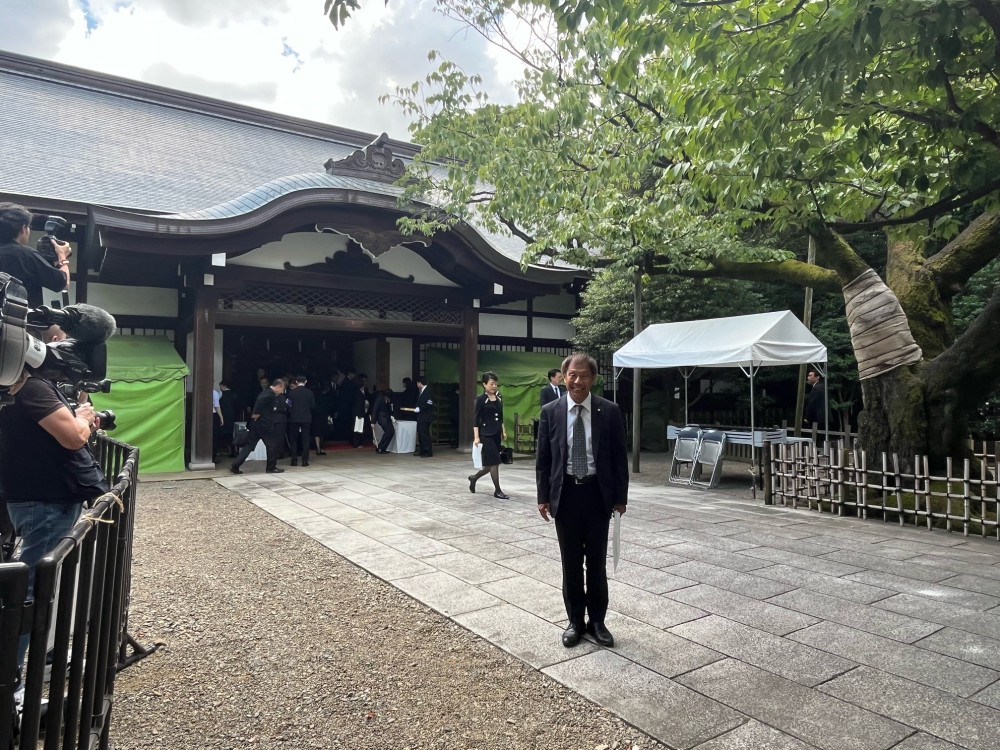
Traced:
<svg viewBox="0 0 1000 750">
<path fill-rule="evenodd" d="M 538 503 L 549 503 L 553 517 L 559 512 L 569 447 L 566 445 L 566 399 L 547 404 L 538 423 L 535 453 L 535 484 Z M 590 427 L 593 440 L 597 481 L 608 515 L 613 506 L 628 503 L 628 453 L 625 448 L 625 424 L 618 405 L 591 395 Z"/>
</svg>

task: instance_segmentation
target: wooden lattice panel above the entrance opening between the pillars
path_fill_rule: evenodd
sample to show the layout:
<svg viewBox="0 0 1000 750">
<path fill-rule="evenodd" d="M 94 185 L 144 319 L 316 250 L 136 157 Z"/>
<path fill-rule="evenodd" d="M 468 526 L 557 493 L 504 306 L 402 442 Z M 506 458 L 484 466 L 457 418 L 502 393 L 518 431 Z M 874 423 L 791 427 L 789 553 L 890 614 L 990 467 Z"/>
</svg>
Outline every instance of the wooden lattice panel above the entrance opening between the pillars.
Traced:
<svg viewBox="0 0 1000 750">
<path fill-rule="evenodd" d="M 250 315 L 308 315 L 451 325 L 462 323 L 461 311 L 449 309 L 437 299 L 264 284 L 248 285 L 237 292 L 221 296 L 219 309 Z"/>
</svg>

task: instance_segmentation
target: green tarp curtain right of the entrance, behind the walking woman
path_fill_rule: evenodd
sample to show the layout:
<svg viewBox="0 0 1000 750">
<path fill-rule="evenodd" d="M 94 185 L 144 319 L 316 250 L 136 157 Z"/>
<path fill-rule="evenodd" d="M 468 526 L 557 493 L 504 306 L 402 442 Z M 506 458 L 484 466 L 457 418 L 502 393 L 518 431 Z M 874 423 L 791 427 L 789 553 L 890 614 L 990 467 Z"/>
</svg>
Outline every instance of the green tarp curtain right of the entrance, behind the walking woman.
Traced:
<svg viewBox="0 0 1000 750">
<path fill-rule="evenodd" d="M 428 349 L 427 379 L 431 383 L 457 382 L 460 369 L 458 355 L 457 349 Z M 513 444 L 514 414 L 520 414 L 522 422 L 530 422 L 538 416 L 542 386 L 549 382 L 549 370 L 562 365 L 563 357 L 541 352 L 479 352 L 477 359 L 477 383 L 482 381 L 482 375 L 487 370 L 497 374 L 503 397 L 504 426 L 508 442 Z M 593 388 L 597 395 L 603 394 L 603 382 L 598 375 Z M 477 386 L 476 395 L 480 393 L 482 386 Z"/>
</svg>

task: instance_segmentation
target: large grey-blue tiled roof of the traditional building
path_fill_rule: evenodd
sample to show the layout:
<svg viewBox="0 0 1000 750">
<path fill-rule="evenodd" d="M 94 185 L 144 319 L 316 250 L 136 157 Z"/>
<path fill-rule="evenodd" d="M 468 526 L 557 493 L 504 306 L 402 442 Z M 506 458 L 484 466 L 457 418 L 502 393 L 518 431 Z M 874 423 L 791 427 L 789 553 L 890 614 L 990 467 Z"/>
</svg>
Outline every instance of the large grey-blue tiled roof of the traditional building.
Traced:
<svg viewBox="0 0 1000 750">
<path fill-rule="evenodd" d="M 0 133 L 0 194 L 188 219 L 234 216 L 308 187 L 399 194 L 324 171 L 375 136 L 8 53 Z M 521 240 L 476 229 L 520 261 Z"/>
</svg>

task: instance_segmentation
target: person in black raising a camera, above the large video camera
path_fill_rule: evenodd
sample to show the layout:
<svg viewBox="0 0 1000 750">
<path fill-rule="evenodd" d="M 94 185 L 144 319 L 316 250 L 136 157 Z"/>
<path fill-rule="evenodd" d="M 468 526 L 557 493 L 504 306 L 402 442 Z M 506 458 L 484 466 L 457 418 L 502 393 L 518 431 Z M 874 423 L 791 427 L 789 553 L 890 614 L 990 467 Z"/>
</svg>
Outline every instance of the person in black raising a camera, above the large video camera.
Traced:
<svg viewBox="0 0 1000 750">
<path fill-rule="evenodd" d="M 42 304 L 42 288 L 61 292 L 69 289 L 67 242 L 52 240 L 55 265 L 28 247 L 31 214 L 16 203 L 0 203 L 0 271 L 20 279 L 28 292 L 29 307 Z"/>
</svg>

